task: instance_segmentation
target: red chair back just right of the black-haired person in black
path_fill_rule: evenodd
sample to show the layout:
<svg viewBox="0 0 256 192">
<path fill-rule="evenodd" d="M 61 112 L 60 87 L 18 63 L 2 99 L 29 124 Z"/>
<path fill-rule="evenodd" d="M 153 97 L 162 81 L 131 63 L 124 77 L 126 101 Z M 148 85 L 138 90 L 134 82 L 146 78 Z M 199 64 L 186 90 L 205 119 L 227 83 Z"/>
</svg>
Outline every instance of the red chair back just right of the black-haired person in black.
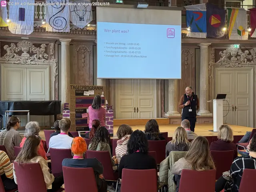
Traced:
<svg viewBox="0 0 256 192">
<path fill-rule="evenodd" d="M 150 141 L 148 140 L 148 151 L 156 152 L 156 164 L 160 164 L 165 159 L 166 140 Z"/>
</svg>

